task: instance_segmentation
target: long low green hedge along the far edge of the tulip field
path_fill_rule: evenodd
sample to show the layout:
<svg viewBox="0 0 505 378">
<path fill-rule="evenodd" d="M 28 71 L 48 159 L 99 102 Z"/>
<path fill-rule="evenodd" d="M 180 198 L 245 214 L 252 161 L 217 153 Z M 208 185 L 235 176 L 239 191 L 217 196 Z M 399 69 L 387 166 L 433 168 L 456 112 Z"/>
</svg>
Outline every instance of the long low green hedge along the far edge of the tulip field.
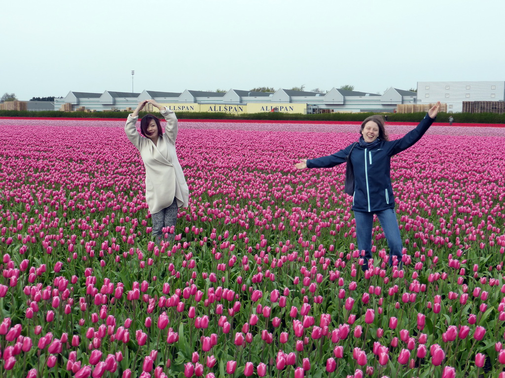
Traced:
<svg viewBox="0 0 505 378">
<path fill-rule="evenodd" d="M 97 111 L 85 113 L 81 111 L 27 111 L 27 110 L 0 110 L 0 116 L 4 117 L 53 117 L 53 118 L 125 118 L 128 111 Z M 140 112 L 140 116 L 146 114 Z M 211 113 L 211 112 L 177 112 L 179 119 L 264 119 L 264 120 L 331 120 L 331 121 L 362 121 L 366 117 L 376 113 L 323 113 L 323 114 L 301 114 L 301 113 Z M 383 113 L 379 113 L 383 114 Z M 392 122 L 418 122 L 426 113 L 388 113 L 388 121 Z M 449 115 L 454 117 L 457 123 L 505 123 L 505 114 L 497 113 L 439 113 L 438 122 L 448 122 Z"/>
</svg>

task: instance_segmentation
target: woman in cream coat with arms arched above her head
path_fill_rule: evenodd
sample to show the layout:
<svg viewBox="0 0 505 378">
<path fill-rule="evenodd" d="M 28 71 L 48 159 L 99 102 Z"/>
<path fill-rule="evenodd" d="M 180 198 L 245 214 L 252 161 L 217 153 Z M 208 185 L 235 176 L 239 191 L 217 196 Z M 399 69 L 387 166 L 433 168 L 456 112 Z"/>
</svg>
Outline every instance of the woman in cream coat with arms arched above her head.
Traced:
<svg viewBox="0 0 505 378">
<path fill-rule="evenodd" d="M 165 133 L 160 120 L 147 114 L 140 121 L 142 138 L 135 126 L 138 112 L 151 103 L 160 109 L 167 120 Z M 128 115 L 125 132 L 131 143 L 140 152 L 145 167 L 145 201 L 153 219 L 153 235 L 158 243 L 163 239 L 163 228 L 174 226 L 179 207 L 188 206 L 188 186 L 182 167 L 175 151 L 177 138 L 177 117 L 172 110 L 161 106 L 155 100 L 145 100 L 138 104 L 132 114 Z M 167 230 L 165 230 L 167 231 Z M 174 234 L 169 234 L 173 240 Z"/>
</svg>

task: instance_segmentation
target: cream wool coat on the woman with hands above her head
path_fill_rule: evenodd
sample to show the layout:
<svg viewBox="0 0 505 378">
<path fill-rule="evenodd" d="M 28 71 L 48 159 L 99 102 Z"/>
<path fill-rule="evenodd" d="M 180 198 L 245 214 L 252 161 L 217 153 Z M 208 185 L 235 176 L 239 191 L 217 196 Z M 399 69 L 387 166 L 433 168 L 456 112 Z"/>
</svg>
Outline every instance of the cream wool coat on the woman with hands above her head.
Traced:
<svg viewBox="0 0 505 378">
<path fill-rule="evenodd" d="M 158 137 L 157 146 L 138 133 L 135 126 L 138 116 L 129 114 L 125 124 L 126 135 L 140 152 L 145 166 L 145 202 L 151 214 L 172 205 L 174 197 L 177 207 L 187 207 L 189 198 L 188 185 L 175 151 L 177 117 L 166 107 L 160 113 L 165 117 L 167 126 L 163 136 Z"/>
</svg>

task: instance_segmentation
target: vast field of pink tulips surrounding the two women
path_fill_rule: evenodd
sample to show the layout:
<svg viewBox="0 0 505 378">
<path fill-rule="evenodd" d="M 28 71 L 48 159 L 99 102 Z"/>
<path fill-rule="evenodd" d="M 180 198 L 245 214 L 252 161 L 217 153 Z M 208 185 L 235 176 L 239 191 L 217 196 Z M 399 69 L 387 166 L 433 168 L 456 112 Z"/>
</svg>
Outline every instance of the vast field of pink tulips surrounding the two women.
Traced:
<svg viewBox="0 0 505 378">
<path fill-rule="evenodd" d="M 179 122 L 162 245 L 123 127 L 0 119 L 0 378 L 505 378 L 505 128 L 392 158 L 402 265 L 376 222 L 363 272 L 345 166 L 294 168 L 359 125 Z"/>
</svg>

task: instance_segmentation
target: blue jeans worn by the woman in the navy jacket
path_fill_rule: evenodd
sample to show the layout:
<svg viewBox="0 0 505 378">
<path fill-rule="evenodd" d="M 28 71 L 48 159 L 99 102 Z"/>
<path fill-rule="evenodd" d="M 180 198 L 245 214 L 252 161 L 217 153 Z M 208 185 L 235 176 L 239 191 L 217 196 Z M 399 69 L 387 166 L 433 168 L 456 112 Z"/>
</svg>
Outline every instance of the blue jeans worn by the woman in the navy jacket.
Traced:
<svg viewBox="0 0 505 378">
<path fill-rule="evenodd" d="M 400 229 L 394 209 L 386 209 L 375 213 L 379 218 L 380 225 L 384 230 L 389 247 L 389 265 L 393 265 L 393 256 L 397 257 L 398 264 L 401 263 L 401 243 Z M 374 213 L 364 211 L 355 211 L 356 236 L 358 239 L 358 248 L 365 251 L 363 270 L 368 269 L 368 260 L 372 258 L 372 224 Z"/>
</svg>

